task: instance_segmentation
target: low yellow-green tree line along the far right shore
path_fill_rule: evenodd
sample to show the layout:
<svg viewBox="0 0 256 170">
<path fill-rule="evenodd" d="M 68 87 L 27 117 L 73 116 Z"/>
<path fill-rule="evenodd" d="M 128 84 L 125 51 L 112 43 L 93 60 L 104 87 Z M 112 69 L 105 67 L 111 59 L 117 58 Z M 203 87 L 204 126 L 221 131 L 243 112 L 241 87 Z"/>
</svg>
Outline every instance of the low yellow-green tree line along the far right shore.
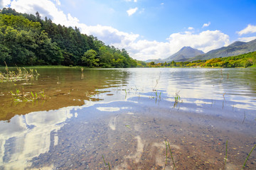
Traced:
<svg viewBox="0 0 256 170">
<path fill-rule="evenodd" d="M 138 67 L 256 67 L 256 52 L 193 62 L 138 63 Z"/>
</svg>

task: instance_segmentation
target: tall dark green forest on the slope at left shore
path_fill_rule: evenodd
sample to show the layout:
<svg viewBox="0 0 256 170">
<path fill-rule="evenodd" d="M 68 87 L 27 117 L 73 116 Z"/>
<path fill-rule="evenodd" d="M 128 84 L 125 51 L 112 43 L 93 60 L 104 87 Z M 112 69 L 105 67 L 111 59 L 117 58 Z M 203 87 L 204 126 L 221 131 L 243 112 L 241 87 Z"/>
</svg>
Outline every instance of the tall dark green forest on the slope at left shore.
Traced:
<svg viewBox="0 0 256 170">
<path fill-rule="evenodd" d="M 56 25 L 12 8 L 0 10 L 0 65 L 136 67 L 126 50 L 105 45 L 75 27 Z"/>
</svg>

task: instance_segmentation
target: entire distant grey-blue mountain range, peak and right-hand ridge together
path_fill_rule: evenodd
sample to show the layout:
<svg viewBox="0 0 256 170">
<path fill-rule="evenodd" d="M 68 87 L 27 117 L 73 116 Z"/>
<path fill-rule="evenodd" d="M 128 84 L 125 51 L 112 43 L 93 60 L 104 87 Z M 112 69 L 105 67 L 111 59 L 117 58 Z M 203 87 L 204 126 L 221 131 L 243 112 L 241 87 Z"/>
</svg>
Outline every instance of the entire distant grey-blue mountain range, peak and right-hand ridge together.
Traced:
<svg viewBox="0 0 256 170">
<path fill-rule="evenodd" d="M 186 62 L 195 60 L 208 60 L 218 57 L 230 57 L 234 55 L 242 55 L 248 52 L 256 51 L 256 39 L 250 42 L 236 41 L 228 45 L 228 47 L 221 47 L 216 50 L 211 50 L 204 53 L 201 50 L 194 49 L 192 47 L 182 47 L 181 50 L 174 55 L 167 57 L 164 60 L 146 60 L 146 62 Z"/>
</svg>

